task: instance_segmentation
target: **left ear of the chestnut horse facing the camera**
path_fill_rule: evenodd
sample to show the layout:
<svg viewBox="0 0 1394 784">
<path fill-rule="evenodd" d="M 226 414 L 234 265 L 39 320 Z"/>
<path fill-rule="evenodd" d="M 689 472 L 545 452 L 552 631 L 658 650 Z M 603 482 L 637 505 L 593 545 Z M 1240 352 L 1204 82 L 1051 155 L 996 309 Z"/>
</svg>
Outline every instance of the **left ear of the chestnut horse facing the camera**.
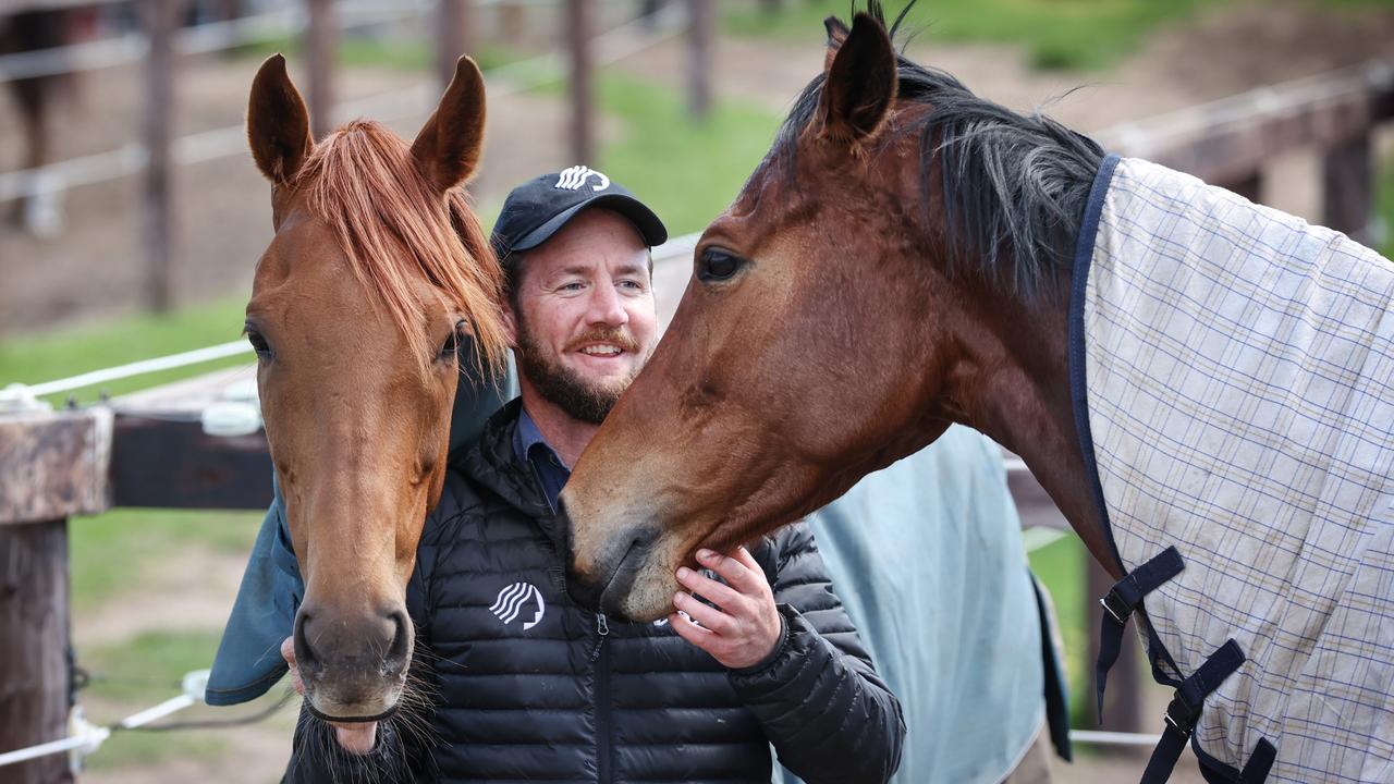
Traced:
<svg viewBox="0 0 1394 784">
<path fill-rule="evenodd" d="M 247 142 L 256 167 L 268 180 L 283 186 L 315 149 L 309 135 L 309 112 L 300 91 L 290 82 L 286 59 L 272 54 L 252 80 L 247 103 Z"/>
</svg>

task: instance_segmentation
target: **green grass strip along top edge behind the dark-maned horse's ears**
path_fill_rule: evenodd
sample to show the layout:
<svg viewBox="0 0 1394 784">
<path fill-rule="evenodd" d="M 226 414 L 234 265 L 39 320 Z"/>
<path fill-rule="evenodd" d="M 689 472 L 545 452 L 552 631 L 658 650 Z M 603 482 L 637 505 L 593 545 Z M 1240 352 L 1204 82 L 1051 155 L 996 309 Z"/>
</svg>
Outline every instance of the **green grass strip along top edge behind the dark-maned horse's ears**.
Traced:
<svg viewBox="0 0 1394 784">
<path fill-rule="evenodd" d="M 1019 45 L 1039 68 L 1101 70 L 1138 50 L 1149 33 L 1184 21 L 1214 3 L 1202 0 L 924 0 L 907 17 L 906 29 L 923 31 L 931 42 Z M 782 0 L 769 14 L 756 3 L 729 6 L 728 32 L 820 40 L 829 14 L 848 20 L 848 0 Z M 866 7 L 859 3 L 859 7 Z M 902 3 L 888 3 L 887 15 Z"/>
</svg>

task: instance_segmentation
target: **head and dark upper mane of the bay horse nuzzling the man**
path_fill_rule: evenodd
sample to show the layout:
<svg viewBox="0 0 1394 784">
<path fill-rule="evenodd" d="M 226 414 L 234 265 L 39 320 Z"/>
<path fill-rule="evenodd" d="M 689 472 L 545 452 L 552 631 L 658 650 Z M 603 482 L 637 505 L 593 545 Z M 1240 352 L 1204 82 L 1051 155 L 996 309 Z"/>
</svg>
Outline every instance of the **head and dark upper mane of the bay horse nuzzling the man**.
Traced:
<svg viewBox="0 0 1394 784">
<path fill-rule="evenodd" d="M 980 403 L 1025 402 L 1064 361 L 1101 158 L 898 56 L 874 3 L 850 31 L 829 18 L 824 73 L 562 494 L 577 598 L 662 615 L 696 548 L 792 522 L 951 421 L 1016 448 Z"/>
</svg>

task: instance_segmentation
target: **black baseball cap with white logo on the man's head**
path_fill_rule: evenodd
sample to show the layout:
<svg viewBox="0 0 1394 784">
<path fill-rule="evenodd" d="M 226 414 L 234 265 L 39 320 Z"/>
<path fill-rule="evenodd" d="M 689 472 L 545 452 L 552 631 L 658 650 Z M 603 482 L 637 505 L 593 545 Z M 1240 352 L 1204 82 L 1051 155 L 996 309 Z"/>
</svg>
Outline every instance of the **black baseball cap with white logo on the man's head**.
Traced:
<svg viewBox="0 0 1394 784">
<path fill-rule="evenodd" d="M 513 188 L 503 199 L 503 211 L 493 225 L 493 252 L 507 265 L 509 257 L 533 250 L 558 233 L 583 209 L 601 206 L 618 212 L 638 229 L 644 244 L 661 246 L 668 241 L 668 229 L 634 198 L 629 188 L 612 183 L 605 174 L 585 166 L 572 166 L 534 177 Z"/>
</svg>

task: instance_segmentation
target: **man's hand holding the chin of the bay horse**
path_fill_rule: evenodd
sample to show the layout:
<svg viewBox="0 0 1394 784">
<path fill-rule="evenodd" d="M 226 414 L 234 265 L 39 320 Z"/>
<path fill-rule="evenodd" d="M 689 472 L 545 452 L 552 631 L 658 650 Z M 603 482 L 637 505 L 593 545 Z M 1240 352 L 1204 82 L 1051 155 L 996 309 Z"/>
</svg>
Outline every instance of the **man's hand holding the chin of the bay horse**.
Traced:
<svg viewBox="0 0 1394 784">
<path fill-rule="evenodd" d="M 673 607 L 691 619 L 673 612 L 668 617 L 673 631 L 730 670 L 760 664 L 774 653 L 783 631 L 783 618 L 775 608 L 775 596 L 765 580 L 765 572 L 744 547 L 729 557 L 698 550 L 697 562 L 721 575 L 729 585 L 687 566 L 677 569 L 677 582 L 691 593 L 677 591 Z M 693 593 L 717 607 L 693 598 Z"/>
</svg>

